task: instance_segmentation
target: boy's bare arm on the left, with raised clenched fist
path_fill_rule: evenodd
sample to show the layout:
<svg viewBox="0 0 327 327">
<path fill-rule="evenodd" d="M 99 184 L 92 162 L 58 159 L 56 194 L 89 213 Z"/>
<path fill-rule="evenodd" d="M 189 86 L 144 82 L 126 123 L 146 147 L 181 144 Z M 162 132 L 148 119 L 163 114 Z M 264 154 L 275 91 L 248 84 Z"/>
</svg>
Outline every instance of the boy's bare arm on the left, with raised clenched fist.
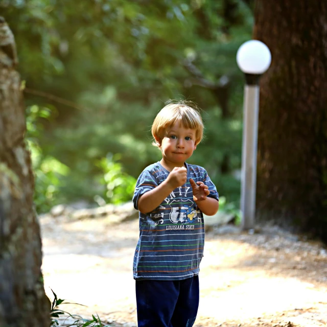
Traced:
<svg viewBox="0 0 327 327">
<path fill-rule="evenodd" d="M 175 167 L 156 188 L 144 193 L 138 198 L 137 207 L 143 214 L 153 211 L 164 201 L 178 186 L 186 182 L 187 170 L 184 167 Z"/>
</svg>

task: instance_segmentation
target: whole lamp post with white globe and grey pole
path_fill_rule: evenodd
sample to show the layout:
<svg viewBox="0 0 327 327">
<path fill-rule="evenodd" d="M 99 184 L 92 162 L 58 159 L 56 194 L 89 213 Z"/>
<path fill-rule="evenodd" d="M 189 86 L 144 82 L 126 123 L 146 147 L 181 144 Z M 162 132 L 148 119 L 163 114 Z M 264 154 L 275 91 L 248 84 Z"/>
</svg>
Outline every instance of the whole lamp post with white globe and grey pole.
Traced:
<svg viewBox="0 0 327 327">
<path fill-rule="evenodd" d="M 256 192 L 256 151 L 258 148 L 259 79 L 267 71 L 271 54 L 266 44 L 258 40 L 243 43 L 236 56 L 237 64 L 245 75 L 241 212 L 242 229 L 254 228 Z"/>
</svg>

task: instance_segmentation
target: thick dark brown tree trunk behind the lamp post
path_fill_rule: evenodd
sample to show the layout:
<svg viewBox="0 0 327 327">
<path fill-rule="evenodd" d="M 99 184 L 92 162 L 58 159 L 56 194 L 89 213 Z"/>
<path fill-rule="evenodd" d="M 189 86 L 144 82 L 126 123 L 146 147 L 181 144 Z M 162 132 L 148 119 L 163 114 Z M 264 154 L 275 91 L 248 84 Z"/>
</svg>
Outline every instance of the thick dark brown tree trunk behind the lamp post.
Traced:
<svg viewBox="0 0 327 327">
<path fill-rule="evenodd" d="M 272 54 L 260 84 L 258 216 L 296 222 L 323 236 L 327 231 L 327 3 L 257 0 L 253 38 L 266 43 Z"/>
</svg>

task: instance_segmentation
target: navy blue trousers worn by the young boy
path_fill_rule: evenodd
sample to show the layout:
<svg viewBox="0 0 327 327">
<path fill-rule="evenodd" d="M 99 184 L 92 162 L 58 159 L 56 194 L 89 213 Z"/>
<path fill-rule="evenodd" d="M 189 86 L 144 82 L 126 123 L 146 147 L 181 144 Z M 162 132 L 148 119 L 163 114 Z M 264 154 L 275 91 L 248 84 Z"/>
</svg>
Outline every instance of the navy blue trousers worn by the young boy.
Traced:
<svg viewBox="0 0 327 327">
<path fill-rule="evenodd" d="M 136 280 L 136 305 L 138 327 L 192 327 L 199 307 L 199 276 Z"/>
</svg>

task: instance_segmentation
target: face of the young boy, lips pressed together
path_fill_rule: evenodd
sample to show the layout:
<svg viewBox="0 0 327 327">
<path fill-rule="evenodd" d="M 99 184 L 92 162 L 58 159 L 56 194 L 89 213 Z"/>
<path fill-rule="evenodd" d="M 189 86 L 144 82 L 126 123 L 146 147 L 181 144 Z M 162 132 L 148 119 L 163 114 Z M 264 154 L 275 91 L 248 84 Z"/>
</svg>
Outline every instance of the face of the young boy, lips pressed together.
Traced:
<svg viewBox="0 0 327 327">
<path fill-rule="evenodd" d="M 166 130 L 162 139 L 155 139 L 161 149 L 162 159 L 170 168 L 182 167 L 196 149 L 196 130 L 183 127 L 179 121 Z"/>
</svg>

